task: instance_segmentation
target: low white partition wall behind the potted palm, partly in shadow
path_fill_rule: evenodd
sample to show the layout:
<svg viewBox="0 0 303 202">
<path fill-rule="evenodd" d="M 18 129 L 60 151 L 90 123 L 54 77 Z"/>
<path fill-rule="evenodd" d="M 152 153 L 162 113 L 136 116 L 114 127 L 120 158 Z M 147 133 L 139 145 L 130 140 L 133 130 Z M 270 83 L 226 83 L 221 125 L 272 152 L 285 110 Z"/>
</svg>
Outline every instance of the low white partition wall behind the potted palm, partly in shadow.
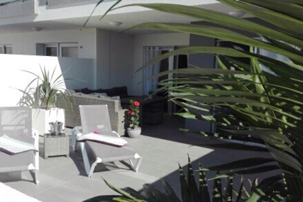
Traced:
<svg viewBox="0 0 303 202">
<path fill-rule="evenodd" d="M 55 74 L 53 78 L 57 78 L 62 71 L 65 71 L 72 64 L 73 67 L 66 72 L 65 78 L 78 78 L 82 80 L 91 80 L 93 78 L 93 61 L 92 59 L 75 59 L 73 58 L 57 58 L 48 56 L 34 55 L 6 55 L 0 54 L 2 68 L 0 69 L 0 107 L 15 106 L 22 96 L 22 92 L 16 90 L 25 90 L 26 86 L 36 78 L 34 75 L 21 71 L 31 71 L 37 75 L 42 75 L 40 66 L 45 67 L 46 71 Z M 37 86 L 34 82 L 32 87 Z M 81 81 L 69 81 L 63 84 L 62 88 L 71 87 L 81 88 L 87 86 Z"/>
</svg>

